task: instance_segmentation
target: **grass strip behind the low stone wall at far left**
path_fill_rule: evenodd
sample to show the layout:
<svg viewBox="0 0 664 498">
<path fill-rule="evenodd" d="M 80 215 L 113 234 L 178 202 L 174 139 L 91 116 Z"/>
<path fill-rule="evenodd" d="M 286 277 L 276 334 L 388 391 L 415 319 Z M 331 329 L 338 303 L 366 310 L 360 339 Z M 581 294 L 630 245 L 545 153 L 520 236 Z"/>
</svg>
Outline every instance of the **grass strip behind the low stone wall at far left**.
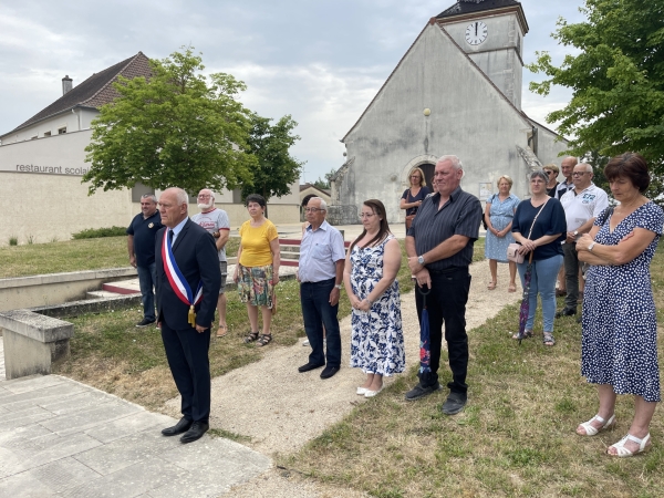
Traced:
<svg viewBox="0 0 664 498">
<path fill-rule="evenodd" d="M 231 237 L 227 243 L 227 255 L 236 256 L 239 245 L 240 239 Z M 0 261 L 2 279 L 128 267 L 127 237 L 61 242 L 52 239 L 48 245 L 6 246 L 0 247 Z"/>
</svg>

